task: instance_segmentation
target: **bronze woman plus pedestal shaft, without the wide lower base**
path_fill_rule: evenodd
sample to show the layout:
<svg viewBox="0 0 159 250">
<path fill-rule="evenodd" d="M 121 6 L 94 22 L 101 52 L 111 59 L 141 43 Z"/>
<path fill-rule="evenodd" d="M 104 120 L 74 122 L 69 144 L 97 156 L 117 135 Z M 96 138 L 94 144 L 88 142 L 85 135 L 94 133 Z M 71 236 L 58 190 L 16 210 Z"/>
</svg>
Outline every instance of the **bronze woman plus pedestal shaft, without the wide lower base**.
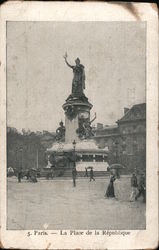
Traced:
<svg viewBox="0 0 159 250">
<path fill-rule="evenodd" d="M 85 71 L 80 64 L 80 59 L 75 60 L 76 65 L 72 66 L 67 61 L 67 54 L 64 56 L 66 64 L 73 70 L 72 93 L 63 105 L 65 111 L 65 142 L 76 142 L 93 136 L 90 110 L 92 104 L 84 94 Z"/>
</svg>

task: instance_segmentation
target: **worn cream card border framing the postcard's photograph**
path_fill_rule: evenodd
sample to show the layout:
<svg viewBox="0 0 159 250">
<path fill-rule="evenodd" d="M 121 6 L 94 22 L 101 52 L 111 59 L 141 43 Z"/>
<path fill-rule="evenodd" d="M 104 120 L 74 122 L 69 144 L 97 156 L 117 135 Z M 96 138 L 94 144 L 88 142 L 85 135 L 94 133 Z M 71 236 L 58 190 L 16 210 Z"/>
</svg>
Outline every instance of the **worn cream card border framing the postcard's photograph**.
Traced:
<svg viewBox="0 0 159 250">
<path fill-rule="evenodd" d="M 124 6 L 124 4 L 123 4 Z M 14 2 L 1 6 L 0 27 L 0 194 L 1 244 L 22 249 L 148 249 L 158 241 L 158 16 L 154 5 L 133 4 L 139 19 L 122 5 L 104 2 Z M 147 207 L 146 230 L 130 236 L 30 236 L 6 230 L 6 21 L 147 22 Z"/>
</svg>

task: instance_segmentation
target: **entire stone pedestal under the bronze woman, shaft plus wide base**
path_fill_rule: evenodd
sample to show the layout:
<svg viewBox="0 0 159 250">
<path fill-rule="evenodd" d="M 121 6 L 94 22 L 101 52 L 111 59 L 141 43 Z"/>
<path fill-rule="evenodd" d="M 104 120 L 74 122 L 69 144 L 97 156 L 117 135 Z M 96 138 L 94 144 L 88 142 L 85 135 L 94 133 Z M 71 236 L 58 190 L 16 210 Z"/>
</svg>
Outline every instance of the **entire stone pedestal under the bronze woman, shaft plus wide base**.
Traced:
<svg viewBox="0 0 159 250">
<path fill-rule="evenodd" d="M 90 111 L 92 104 L 87 97 L 70 95 L 63 104 L 65 111 L 65 141 L 58 141 L 47 150 L 52 155 L 57 175 L 72 178 L 72 168 L 76 166 L 79 176 L 84 176 L 86 169 L 93 168 L 99 175 L 105 175 L 108 148 L 100 149 L 93 139 Z M 93 119 L 94 120 L 94 119 Z M 72 144 L 76 141 L 76 144 Z"/>
</svg>

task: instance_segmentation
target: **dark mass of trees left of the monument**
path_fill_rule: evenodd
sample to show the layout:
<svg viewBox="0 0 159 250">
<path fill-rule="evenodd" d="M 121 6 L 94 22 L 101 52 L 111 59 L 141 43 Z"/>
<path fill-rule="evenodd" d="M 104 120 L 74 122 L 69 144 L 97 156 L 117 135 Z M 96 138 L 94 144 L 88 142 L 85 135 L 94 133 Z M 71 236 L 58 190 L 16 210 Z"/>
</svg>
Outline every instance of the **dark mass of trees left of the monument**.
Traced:
<svg viewBox="0 0 159 250">
<path fill-rule="evenodd" d="M 19 133 L 14 128 L 7 129 L 7 166 L 14 169 L 30 169 L 45 166 L 45 148 L 41 137 L 30 130 Z"/>
</svg>

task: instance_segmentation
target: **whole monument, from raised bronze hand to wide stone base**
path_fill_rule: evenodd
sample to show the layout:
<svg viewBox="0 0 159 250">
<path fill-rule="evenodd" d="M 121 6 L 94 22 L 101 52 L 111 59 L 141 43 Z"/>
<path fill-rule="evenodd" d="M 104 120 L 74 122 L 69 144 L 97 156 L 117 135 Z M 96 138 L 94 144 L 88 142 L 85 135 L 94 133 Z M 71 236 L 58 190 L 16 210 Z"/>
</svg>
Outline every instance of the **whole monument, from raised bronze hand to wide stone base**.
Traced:
<svg viewBox="0 0 159 250">
<path fill-rule="evenodd" d="M 76 166 L 77 171 L 84 172 L 85 168 L 93 167 L 94 171 L 107 171 L 108 149 L 100 149 L 96 145 L 93 136 L 90 111 L 93 105 L 84 94 L 85 69 L 80 59 L 75 60 L 75 65 L 70 65 L 67 53 L 64 56 L 65 63 L 73 71 L 72 91 L 63 104 L 65 112 L 65 126 L 60 122 L 56 130 L 56 143 L 49 149 L 50 161 L 56 169 L 63 173 L 67 169 Z"/>
</svg>

